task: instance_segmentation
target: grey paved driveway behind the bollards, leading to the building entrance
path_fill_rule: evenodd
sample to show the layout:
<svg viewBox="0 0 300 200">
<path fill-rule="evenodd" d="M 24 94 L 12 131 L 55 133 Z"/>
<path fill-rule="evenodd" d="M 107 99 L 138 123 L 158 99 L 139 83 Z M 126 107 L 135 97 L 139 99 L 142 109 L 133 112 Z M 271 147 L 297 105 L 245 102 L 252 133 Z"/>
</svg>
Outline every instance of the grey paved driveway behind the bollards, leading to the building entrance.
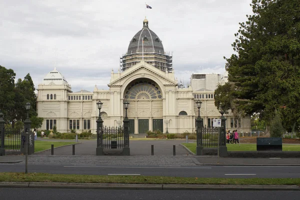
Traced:
<svg viewBox="0 0 300 200">
<path fill-rule="evenodd" d="M 79 140 L 81 143 L 75 145 L 75 155 L 95 155 L 96 140 Z M 176 155 L 186 155 L 188 151 L 179 145 L 185 142 L 180 140 L 130 140 L 130 155 L 151 155 L 151 144 L 154 145 L 154 155 L 173 155 L 173 145 L 175 144 Z M 55 142 L 53 142 L 55 147 Z M 104 149 L 105 151 L 105 149 Z M 49 155 L 50 150 L 38 154 Z M 54 155 L 71 155 L 72 145 L 54 148 Z"/>
</svg>

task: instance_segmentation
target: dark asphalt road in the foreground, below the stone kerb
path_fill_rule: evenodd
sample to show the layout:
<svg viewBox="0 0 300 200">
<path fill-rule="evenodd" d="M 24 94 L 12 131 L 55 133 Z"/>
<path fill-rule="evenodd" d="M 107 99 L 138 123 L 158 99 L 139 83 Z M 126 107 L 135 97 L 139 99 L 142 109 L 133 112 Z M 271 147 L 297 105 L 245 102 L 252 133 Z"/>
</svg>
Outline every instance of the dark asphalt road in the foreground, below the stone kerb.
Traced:
<svg viewBox="0 0 300 200">
<path fill-rule="evenodd" d="M 0 188 L 1 199 L 299 199 L 300 191 Z"/>
</svg>

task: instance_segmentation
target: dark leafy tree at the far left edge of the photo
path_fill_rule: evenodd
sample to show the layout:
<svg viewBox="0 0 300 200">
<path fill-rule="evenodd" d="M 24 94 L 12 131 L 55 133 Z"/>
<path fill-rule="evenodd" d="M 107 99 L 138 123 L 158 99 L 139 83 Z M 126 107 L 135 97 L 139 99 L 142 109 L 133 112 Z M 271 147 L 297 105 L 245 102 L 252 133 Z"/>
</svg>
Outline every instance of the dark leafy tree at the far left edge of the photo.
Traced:
<svg viewBox="0 0 300 200">
<path fill-rule="evenodd" d="M 14 106 L 14 78 L 15 73 L 12 69 L 0 65 L 0 110 L 6 122 L 10 115 L 9 111 Z"/>
</svg>

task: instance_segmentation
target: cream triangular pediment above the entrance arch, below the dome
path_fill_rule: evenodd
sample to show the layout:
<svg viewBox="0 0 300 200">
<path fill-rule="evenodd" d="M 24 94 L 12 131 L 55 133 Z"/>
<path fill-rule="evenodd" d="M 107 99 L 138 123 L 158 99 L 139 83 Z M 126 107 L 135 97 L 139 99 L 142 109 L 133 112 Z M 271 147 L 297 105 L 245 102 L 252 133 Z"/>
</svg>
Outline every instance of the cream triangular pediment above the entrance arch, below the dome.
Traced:
<svg viewBox="0 0 300 200">
<path fill-rule="evenodd" d="M 177 82 L 175 82 L 174 80 L 171 80 L 170 78 L 167 77 L 167 73 L 165 73 L 164 71 L 161 71 L 151 65 L 149 65 L 148 63 L 146 63 L 145 61 L 141 61 L 137 64 L 135 64 L 134 66 L 126 69 L 124 72 L 122 72 L 120 74 L 120 77 L 111 81 L 108 86 L 121 86 L 122 82 L 133 76 L 136 74 L 140 74 L 141 76 L 143 74 L 151 74 L 154 75 L 156 77 L 158 77 L 159 79 L 163 80 L 163 84 L 164 85 L 177 85 Z"/>
</svg>

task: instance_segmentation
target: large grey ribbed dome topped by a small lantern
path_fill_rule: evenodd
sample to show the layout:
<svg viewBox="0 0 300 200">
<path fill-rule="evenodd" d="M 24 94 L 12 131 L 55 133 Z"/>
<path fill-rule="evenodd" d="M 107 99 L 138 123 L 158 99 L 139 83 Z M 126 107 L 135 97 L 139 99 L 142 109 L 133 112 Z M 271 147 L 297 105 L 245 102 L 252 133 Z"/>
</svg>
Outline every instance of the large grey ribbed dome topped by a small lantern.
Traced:
<svg viewBox="0 0 300 200">
<path fill-rule="evenodd" d="M 143 41 L 143 47 L 142 47 Z M 127 54 L 136 52 L 155 52 L 164 54 L 163 46 L 159 37 L 149 29 L 148 20 L 143 20 L 143 27 L 130 40 Z"/>
</svg>

